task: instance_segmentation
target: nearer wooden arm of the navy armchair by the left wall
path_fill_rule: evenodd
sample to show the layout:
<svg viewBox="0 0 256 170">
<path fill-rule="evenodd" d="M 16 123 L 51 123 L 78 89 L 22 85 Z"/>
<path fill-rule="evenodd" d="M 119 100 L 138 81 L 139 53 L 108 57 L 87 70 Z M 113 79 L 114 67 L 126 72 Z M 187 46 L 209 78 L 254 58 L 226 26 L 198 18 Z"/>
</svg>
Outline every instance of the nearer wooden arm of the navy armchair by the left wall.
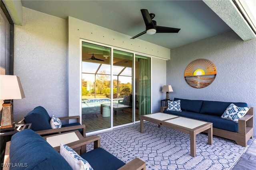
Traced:
<svg viewBox="0 0 256 170">
<path fill-rule="evenodd" d="M 70 127 L 61 127 L 57 129 L 47 129 L 42 131 L 36 131 L 39 135 L 46 135 L 50 133 L 58 133 L 58 132 L 64 132 L 64 131 L 74 131 L 78 129 L 83 129 L 83 137 L 86 137 L 85 135 L 85 125 L 76 125 L 76 126 L 70 126 Z"/>
</svg>

